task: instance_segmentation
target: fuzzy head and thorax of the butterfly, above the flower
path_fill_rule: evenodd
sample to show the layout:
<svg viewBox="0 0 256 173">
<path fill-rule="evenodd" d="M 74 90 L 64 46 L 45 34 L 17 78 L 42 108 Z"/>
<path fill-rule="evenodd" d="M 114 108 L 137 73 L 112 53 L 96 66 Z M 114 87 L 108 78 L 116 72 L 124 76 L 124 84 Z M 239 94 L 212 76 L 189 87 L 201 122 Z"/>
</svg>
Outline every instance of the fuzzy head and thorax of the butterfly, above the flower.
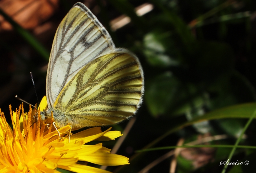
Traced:
<svg viewBox="0 0 256 173">
<path fill-rule="evenodd" d="M 67 116 L 65 115 L 65 112 L 62 112 L 60 110 L 55 110 L 54 108 L 49 108 L 48 106 L 46 109 L 41 111 L 41 120 L 44 121 L 46 124 L 50 124 L 55 122 L 56 126 L 58 128 L 64 127 L 68 124 Z M 52 120 L 53 115 L 53 120 Z"/>
</svg>

